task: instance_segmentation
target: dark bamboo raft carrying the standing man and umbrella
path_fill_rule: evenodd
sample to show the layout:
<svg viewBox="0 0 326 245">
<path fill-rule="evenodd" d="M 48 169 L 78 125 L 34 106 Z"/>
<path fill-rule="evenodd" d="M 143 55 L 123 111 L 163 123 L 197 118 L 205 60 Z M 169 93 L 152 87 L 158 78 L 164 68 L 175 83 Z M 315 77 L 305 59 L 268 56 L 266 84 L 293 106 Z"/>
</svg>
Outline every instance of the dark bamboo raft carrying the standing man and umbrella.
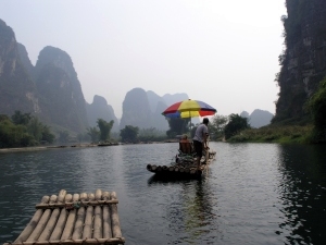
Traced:
<svg viewBox="0 0 326 245">
<path fill-rule="evenodd" d="M 183 177 L 197 177 L 202 173 L 208 172 L 210 163 L 215 159 L 215 151 L 211 151 L 205 156 L 205 159 L 201 161 L 201 166 L 198 169 L 196 166 L 196 159 L 192 162 L 175 163 L 171 166 L 156 166 L 147 164 L 147 170 L 162 176 L 183 176 Z"/>
</svg>

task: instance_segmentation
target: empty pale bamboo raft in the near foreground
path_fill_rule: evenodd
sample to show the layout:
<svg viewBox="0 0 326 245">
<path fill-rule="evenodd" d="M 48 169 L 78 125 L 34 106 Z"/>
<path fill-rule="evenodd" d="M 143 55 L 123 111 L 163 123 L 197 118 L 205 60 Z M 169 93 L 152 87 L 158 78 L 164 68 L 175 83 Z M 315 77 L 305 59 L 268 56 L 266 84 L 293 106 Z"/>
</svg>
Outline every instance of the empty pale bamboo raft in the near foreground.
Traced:
<svg viewBox="0 0 326 245">
<path fill-rule="evenodd" d="M 117 215 L 115 192 L 43 196 L 36 212 L 13 243 L 46 244 L 124 244 Z"/>
</svg>

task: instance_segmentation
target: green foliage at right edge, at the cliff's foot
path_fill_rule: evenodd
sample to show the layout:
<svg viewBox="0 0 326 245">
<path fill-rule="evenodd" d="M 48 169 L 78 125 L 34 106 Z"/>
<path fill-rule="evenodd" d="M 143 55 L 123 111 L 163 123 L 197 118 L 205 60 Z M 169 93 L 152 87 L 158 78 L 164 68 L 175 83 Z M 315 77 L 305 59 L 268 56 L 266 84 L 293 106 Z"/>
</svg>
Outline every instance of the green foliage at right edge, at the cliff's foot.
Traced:
<svg viewBox="0 0 326 245">
<path fill-rule="evenodd" d="M 313 119 L 313 140 L 326 142 L 326 77 L 319 83 L 316 93 L 309 99 L 308 109 Z"/>
</svg>

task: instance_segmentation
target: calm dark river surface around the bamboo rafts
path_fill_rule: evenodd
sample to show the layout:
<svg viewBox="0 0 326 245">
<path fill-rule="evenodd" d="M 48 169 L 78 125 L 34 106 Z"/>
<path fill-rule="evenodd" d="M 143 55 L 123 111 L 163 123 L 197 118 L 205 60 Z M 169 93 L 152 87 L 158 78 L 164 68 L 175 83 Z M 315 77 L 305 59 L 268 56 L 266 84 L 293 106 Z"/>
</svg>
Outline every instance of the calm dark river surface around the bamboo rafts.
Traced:
<svg viewBox="0 0 326 245">
<path fill-rule="evenodd" d="M 210 143 L 201 180 L 162 181 L 177 144 L 0 154 L 0 244 L 42 196 L 116 192 L 126 244 L 326 244 L 326 146 Z"/>
</svg>

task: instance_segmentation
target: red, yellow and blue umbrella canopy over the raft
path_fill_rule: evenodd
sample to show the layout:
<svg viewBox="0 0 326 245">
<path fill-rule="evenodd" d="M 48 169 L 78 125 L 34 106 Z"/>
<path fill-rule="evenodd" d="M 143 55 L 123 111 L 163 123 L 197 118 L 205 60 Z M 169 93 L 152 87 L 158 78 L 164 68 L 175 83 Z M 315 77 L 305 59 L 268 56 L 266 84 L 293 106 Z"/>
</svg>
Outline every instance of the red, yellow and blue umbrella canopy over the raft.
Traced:
<svg viewBox="0 0 326 245">
<path fill-rule="evenodd" d="M 200 100 L 184 100 L 176 102 L 162 112 L 167 118 L 196 118 L 214 115 L 216 109 Z"/>
</svg>

